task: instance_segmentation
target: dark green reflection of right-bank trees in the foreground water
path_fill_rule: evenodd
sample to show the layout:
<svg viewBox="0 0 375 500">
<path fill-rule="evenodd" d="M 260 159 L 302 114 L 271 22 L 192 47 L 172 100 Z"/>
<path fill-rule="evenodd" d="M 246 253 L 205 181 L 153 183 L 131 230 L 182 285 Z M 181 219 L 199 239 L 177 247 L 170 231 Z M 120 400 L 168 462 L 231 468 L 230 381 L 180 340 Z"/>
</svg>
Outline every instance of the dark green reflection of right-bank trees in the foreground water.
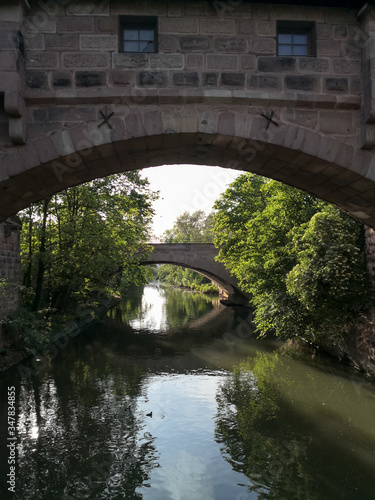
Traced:
<svg viewBox="0 0 375 500">
<path fill-rule="evenodd" d="M 274 352 L 257 353 L 234 367 L 217 398 L 216 439 L 224 444 L 226 459 L 250 479 L 249 493 L 258 499 L 370 500 L 375 473 L 373 389 L 367 387 L 373 400 L 369 407 L 364 394 L 358 397 L 345 379 L 338 379 L 345 386 L 344 401 L 358 405 L 357 411 L 344 402 L 324 408 L 315 370 L 307 369 L 298 379 L 294 364 Z M 318 387 L 325 392 L 324 386 Z M 302 392 L 305 404 L 299 401 L 299 408 L 295 403 Z M 309 401 L 314 406 L 319 401 L 323 408 L 306 412 Z M 366 429 L 357 427 L 357 412 L 367 420 Z"/>
</svg>

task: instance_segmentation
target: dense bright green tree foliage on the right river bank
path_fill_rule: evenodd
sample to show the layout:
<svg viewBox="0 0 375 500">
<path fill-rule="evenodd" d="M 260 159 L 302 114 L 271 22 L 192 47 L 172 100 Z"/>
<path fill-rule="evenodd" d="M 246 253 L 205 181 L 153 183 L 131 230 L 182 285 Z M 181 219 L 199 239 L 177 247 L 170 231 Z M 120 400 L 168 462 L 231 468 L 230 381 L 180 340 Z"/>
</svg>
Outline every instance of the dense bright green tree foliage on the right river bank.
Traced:
<svg viewBox="0 0 375 500">
<path fill-rule="evenodd" d="M 219 260 L 252 295 L 260 334 L 314 341 L 369 306 L 363 227 L 338 208 L 254 174 L 214 208 Z"/>
</svg>

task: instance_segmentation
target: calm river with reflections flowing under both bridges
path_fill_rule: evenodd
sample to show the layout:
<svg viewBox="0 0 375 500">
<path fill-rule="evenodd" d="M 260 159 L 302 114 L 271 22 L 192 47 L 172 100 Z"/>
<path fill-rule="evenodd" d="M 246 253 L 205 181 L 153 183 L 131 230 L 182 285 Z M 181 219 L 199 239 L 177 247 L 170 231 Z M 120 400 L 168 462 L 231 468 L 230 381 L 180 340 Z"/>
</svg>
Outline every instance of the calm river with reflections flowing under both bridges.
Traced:
<svg viewBox="0 0 375 500">
<path fill-rule="evenodd" d="M 0 498 L 374 500 L 374 384 L 282 354 L 248 319 L 149 284 L 37 370 L 8 370 Z"/>
</svg>

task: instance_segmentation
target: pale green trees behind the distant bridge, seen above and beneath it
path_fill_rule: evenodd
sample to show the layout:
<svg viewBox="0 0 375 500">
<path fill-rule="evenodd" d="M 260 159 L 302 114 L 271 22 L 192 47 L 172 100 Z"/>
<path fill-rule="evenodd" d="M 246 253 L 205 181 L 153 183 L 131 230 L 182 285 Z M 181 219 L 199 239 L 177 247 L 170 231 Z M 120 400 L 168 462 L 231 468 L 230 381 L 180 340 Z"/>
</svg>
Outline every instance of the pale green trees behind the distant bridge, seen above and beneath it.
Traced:
<svg viewBox="0 0 375 500">
<path fill-rule="evenodd" d="M 164 243 L 213 243 L 213 215 L 202 210 L 190 214 L 184 212 L 177 217 L 173 227 L 165 231 Z M 157 278 L 162 283 L 189 288 L 203 293 L 217 294 L 218 288 L 212 282 L 191 269 L 162 264 L 157 269 Z"/>
</svg>

